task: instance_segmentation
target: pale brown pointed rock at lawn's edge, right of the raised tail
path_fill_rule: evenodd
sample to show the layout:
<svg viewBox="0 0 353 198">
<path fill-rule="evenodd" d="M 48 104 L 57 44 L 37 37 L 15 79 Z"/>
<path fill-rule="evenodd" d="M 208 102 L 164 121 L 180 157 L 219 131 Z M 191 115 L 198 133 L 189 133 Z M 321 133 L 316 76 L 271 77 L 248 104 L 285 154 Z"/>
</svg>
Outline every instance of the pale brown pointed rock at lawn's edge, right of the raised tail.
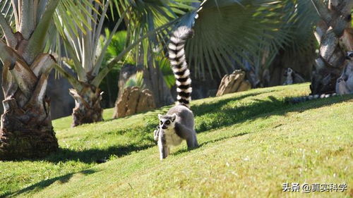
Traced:
<svg viewBox="0 0 353 198">
<path fill-rule="evenodd" d="M 242 70 L 234 70 L 230 75 L 225 75 L 222 78 L 220 87 L 218 88 L 217 97 L 224 94 L 243 92 L 251 88 L 250 82 L 245 79 L 245 72 Z"/>
</svg>

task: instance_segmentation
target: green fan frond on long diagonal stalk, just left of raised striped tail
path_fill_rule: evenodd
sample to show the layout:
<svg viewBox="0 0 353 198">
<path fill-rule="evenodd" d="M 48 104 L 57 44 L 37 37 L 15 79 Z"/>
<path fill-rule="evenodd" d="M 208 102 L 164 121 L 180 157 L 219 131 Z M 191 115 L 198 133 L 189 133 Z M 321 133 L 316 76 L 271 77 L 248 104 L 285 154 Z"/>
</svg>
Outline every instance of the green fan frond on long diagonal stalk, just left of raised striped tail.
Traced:
<svg viewBox="0 0 353 198">
<path fill-rule="evenodd" d="M 178 4 L 176 3 L 178 2 Z M 169 31 L 179 21 L 177 13 L 185 13 L 183 9 L 192 8 L 188 6 L 192 0 L 178 1 L 128 1 L 120 0 L 116 4 L 119 13 L 130 9 L 124 17 L 127 27 L 126 47 L 124 51 L 116 56 L 109 64 L 100 70 L 100 73 L 92 81 L 93 85 L 99 85 L 114 64 L 121 60 L 130 51 L 134 52 L 136 63 L 148 65 L 154 49 L 162 49 L 169 35 Z M 184 5 L 183 9 L 177 6 Z"/>
</svg>

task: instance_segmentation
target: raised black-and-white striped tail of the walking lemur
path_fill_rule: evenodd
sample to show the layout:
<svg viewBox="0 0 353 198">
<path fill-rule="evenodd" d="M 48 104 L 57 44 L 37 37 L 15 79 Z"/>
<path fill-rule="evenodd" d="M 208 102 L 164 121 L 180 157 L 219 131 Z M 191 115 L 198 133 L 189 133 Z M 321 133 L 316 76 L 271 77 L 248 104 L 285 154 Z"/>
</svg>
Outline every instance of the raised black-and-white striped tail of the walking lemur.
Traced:
<svg viewBox="0 0 353 198">
<path fill-rule="evenodd" d="M 191 101 L 191 78 L 188 64 L 186 63 L 184 46 L 186 39 L 193 35 L 189 27 L 178 27 L 170 37 L 168 45 L 169 61 L 172 65 L 174 77 L 177 80 L 178 104 L 189 107 Z"/>
</svg>

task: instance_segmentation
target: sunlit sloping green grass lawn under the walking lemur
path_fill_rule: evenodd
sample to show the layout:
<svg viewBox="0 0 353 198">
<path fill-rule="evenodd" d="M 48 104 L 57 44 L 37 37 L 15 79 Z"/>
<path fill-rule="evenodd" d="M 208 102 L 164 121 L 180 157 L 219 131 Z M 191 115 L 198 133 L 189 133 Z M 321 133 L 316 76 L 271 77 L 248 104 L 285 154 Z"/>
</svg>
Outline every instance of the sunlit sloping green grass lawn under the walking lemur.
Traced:
<svg viewBox="0 0 353 198">
<path fill-rule="evenodd" d="M 0 162 L 0 197 L 353 197 L 353 95 L 285 104 L 309 85 L 252 89 L 192 102 L 201 147 L 160 161 L 157 113 L 70 128 L 60 150 Z M 110 119 L 110 120 L 109 120 Z M 97 164 L 97 159 L 109 159 Z M 345 192 L 282 192 L 282 183 L 346 183 Z"/>
</svg>

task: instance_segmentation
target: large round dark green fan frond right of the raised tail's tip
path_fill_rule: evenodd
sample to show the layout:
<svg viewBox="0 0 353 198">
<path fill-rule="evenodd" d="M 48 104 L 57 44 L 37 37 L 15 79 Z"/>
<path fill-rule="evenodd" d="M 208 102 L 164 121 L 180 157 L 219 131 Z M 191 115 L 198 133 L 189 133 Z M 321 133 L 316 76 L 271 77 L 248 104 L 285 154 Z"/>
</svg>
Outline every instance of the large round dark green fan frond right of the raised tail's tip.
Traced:
<svg viewBox="0 0 353 198">
<path fill-rule="evenodd" d="M 276 32 L 276 23 L 281 23 L 276 13 L 265 9 L 275 8 L 268 1 L 206 1 L 198 11 L 194 36 L 186 44 L 186 54 L 196 78 L 205 78 L 205 68 L 213 74 L 215 69 L 221 78 L 229 73 L 236 61 L 242 58 L 251 61 L 262 45 L 269 45 Z M 271 34 L 272 33 L 272 34 Z M 197 51 L 197 54 L 196 54 Z M 191 58 L 193 57 L 193 58 Z"/>
</svg>

